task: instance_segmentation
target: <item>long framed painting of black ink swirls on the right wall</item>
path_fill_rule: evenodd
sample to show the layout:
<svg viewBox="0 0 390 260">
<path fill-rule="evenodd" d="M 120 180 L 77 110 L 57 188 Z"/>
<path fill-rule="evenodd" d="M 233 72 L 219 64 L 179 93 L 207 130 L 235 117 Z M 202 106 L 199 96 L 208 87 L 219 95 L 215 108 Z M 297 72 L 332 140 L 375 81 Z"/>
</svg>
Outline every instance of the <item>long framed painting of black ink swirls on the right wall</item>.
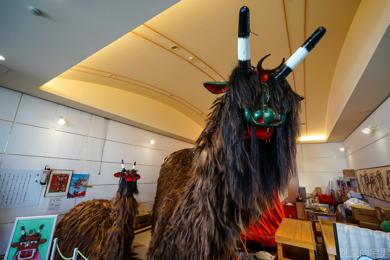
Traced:
<svg viewBox="0 0 390 260">
<path fill-rule="evenodd" d="M 390 165 L 356 170 L 360 193 L 390 201 Z"/>
</svg>

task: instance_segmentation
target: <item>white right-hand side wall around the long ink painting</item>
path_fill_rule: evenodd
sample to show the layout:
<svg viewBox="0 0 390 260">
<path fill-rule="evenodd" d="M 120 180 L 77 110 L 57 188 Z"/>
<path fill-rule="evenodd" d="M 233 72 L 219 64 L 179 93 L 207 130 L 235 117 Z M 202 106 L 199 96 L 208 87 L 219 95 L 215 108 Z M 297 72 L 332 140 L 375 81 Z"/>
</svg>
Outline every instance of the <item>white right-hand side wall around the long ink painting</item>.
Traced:
<svg viewBox="0 0 390 260">
<path fill-rule="evenodd" d="M 377 126 L 369 134 L 362 132 L 368 125 Z M 348 169 L 366 169 L 390 165 L 390 98 L 385 100 L 351 135 L 343 141 Z M 373 206 L 390 207 L 390 202 L 366 196 Z"/>
</svg>

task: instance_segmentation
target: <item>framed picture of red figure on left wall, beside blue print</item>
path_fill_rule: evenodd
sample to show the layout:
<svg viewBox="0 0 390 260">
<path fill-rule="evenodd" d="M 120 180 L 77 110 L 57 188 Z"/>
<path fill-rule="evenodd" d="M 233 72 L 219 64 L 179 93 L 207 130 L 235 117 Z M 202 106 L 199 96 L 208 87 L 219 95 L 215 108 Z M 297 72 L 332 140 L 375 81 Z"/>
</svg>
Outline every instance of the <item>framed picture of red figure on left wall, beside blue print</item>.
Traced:
<svg viewBox="0 0 390 260">
<path fill-rule="evenodd" d="M 51 170 L 44 197 L 66 196 L 72 180 L 72 170 Z"/>
</svg>

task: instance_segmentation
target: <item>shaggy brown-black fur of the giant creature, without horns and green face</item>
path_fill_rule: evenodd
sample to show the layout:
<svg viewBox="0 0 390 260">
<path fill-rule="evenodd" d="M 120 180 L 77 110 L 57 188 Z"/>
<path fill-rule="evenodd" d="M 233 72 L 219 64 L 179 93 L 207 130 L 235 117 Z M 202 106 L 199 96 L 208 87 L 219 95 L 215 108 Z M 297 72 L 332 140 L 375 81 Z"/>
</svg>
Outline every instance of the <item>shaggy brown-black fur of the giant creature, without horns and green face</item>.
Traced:
<svg viewBox="0 0 390 260">
<path fill-rule="evenodd" d="M 299 98 L 270 75 L 270 104 L 286 113 L 269 141 L 244 138 L 242 108 L 264 106 L 261 80 L 234 69 L 194 149 L 162 164 L 147 260 L 233 260 L 240 232 L 273 207 L 296 174 Z M 254 136 L 254 135 L 253 135 Z"/>
</svg>

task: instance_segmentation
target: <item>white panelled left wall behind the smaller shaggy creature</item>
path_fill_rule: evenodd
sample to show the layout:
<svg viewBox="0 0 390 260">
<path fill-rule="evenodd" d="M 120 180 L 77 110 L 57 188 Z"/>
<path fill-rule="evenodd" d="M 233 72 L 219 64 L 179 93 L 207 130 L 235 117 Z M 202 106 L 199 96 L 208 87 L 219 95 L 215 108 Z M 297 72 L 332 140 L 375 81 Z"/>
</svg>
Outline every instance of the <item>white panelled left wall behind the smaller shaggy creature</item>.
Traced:
<svg viewBox="0 0 390 260">
<path fill-rule="evenodd" d="M 57 122 L 60 116 L 66 120 L 64 125 Z M 43 170 L 48 164 L 51 169 L 88 173 L 88 184 L 93 186 L 85 198 L 62 197 L 58 211 L 46 211 L 46 186 L 38 206 L 0 210 L 0 255 L 5 254 L 15 218 L 59 214 L 61 220 L 81 201 L 113 198 L 118 187 L 113 175 L 121 170 L 122 159 L 126 169 L 137 161 L 139 210 L 151 209 L 162 161 L 174 151 L 192 147 L 113 120 L 108 121 L 103 139 L 103 125 L 101 117 L 0 87 L 0 169 Z M 149 143 L 149 138 L 156 142 Z"/>
</svg>

